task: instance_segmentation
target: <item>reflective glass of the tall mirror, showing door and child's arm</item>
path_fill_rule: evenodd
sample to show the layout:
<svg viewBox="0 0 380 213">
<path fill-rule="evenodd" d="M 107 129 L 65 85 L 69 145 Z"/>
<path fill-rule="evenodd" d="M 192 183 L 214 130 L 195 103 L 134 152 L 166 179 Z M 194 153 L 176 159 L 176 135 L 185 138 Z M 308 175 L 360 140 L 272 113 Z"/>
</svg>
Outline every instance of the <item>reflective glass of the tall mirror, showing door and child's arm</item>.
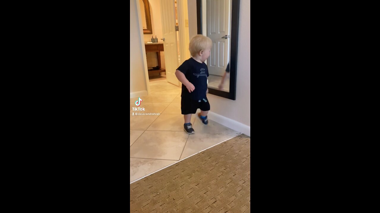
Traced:
<svg viewBox="0 0 380 213">
<path fill-rule="evenodd" d="M 211 55 L 207 59 L 209 88 L 230 92 L 231 0 L 202 0 L 203 35 L 211 38 Z M 206 13 L 205 13 L 206 12 Z"/>
</svg>

